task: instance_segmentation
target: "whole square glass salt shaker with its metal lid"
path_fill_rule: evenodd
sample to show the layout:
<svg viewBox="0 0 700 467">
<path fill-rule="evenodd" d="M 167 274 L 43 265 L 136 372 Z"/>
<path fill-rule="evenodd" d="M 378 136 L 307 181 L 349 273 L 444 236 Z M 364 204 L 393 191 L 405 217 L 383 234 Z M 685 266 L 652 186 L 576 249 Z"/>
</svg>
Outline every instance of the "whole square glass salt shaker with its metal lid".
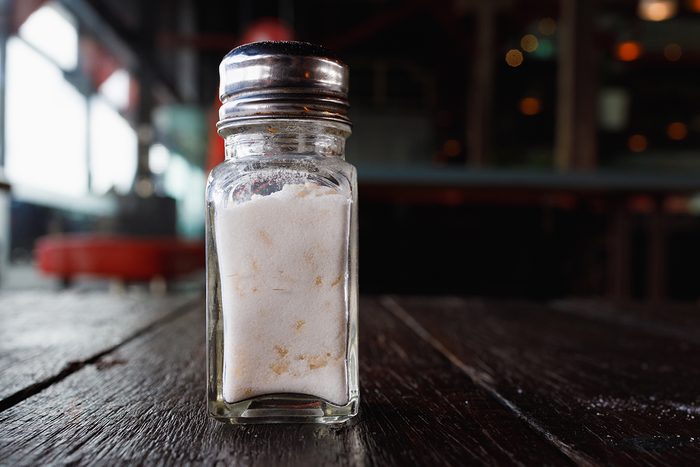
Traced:
<svg viewBox="0 0 700 467">
<path fill-rule="evenodd" d="M 230 423 L 357 414 L 357 188 L 348 68 L 300 42 L 219 68 L 226 160 L 207 182 L 208 406 Z"/>
</svg>

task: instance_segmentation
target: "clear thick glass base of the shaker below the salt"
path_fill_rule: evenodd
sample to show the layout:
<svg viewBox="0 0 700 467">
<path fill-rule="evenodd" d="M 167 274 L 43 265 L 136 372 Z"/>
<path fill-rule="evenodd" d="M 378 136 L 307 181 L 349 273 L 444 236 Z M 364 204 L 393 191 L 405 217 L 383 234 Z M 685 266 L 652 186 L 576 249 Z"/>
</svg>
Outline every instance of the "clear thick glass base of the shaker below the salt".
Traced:
<svg viewBox="0 0 700 467">
<path fill-rule="evenodd" d="M 268 394 L 240 402 L 209 401 L 209 413 L 234 425 L 256 423 L 345 423 L 357 415 L 359 399 L 335 405 L 304 394 Z"/>
</svg>

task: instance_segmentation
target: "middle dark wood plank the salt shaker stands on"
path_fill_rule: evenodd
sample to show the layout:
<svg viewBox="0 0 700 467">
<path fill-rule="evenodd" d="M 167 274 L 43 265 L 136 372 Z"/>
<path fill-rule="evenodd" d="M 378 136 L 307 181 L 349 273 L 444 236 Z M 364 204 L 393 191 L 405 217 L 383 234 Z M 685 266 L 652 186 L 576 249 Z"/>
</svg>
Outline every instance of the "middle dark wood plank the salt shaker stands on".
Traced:
<svg viewBox="0 0 700 467">
<path fill-rule="evenodd" d="M 366 299 L 356 421 L 339 428 L 215 422 L 204 402 L 203 308 L 0 413 L 0 464 L 571 464 Z"/>
</svg>

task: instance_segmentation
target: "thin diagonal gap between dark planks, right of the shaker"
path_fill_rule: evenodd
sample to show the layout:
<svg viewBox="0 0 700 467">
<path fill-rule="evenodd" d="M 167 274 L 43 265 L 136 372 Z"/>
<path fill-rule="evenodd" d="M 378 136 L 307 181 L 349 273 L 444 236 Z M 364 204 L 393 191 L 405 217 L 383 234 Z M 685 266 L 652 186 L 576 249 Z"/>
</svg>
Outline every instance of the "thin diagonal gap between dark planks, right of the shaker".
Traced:
<svg viewBox="0 0 700 467">
<path fill-rule="evenodd" d="M 543 436 L 551 445 L 561 451 L 565 456 L 571 459 L 578 465 L 582 466 L 593 466 L 596 462 L 588 457 L 586 454 L 577 451 L 573 447 L 569 446 L 562 440 L 560 440 L 556 435 L 549 432 L 545 427 L 540 425 L 540 423 L 534 418 L 523 413 L 518 406 L 516 406 L 512 401 L 505 398 L 501 393 L 499 393 L 494 387 L 493 378 L 471 367 L 459 359 L 457 355 L 451 352 L 445 345 L 436 339 L 430 332 L 424 328 L 418 321 L 416 321 L 404 307 L 402 307 L 393 296 L 385 295 L 379 298 L 379 303 L 386 310 L 392 313 L 399 321 L 408 326 L 413 332 L 415 332 L 418 337 L 427 342 L 436 351 L 438 351 L 443 357 L 447 358 L 453 365 L 459 368 L 467 377 L 481 389 L 485 390 L 490 394 L 498 403 L 506 407 L 508 410 L 513 412 L 519 419 L 523 420 L 530 428 Z"/>
</svg>

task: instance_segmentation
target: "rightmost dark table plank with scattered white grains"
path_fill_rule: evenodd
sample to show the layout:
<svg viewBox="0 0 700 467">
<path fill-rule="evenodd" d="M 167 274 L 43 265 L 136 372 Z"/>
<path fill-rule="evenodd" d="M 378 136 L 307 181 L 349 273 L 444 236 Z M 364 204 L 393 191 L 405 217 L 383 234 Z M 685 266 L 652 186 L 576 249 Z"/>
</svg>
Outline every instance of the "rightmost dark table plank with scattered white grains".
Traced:
<svg viewBox="0 0 700 467">
<path fill-rule="evenodd" d="M 504 403 L 596 462 L 700 461 L 697 342 L 527 303 L 383 303 Z"/>
</svg>

